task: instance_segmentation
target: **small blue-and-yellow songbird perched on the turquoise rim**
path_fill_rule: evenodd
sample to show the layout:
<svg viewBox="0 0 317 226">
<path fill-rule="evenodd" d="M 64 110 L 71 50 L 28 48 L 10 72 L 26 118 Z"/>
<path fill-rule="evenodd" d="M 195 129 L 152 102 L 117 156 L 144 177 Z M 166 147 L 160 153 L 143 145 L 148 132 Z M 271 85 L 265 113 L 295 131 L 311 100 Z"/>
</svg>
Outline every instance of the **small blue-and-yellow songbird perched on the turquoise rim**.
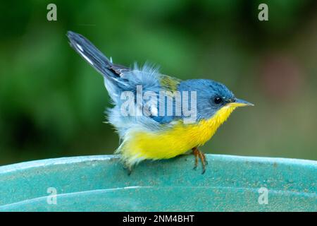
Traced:
<svg viewBox="0 0 317 226">
<path fill-rule="evenodd" d="M 129 172 L 142 160 L 169 159 L 192 150 L 194 169 L 200 159 L 204 173 L 206 157 L 198 148 L 235 108 L 252 105 L 216 81 L 181 81 L 149 64 L 113 64 L 82 35 L 68 31 L 67 36 L 70 46 L 104 77 L 114 105 L 107 111 L 108 121 L 121 141 L 116 153 Z"/>
</svg>

